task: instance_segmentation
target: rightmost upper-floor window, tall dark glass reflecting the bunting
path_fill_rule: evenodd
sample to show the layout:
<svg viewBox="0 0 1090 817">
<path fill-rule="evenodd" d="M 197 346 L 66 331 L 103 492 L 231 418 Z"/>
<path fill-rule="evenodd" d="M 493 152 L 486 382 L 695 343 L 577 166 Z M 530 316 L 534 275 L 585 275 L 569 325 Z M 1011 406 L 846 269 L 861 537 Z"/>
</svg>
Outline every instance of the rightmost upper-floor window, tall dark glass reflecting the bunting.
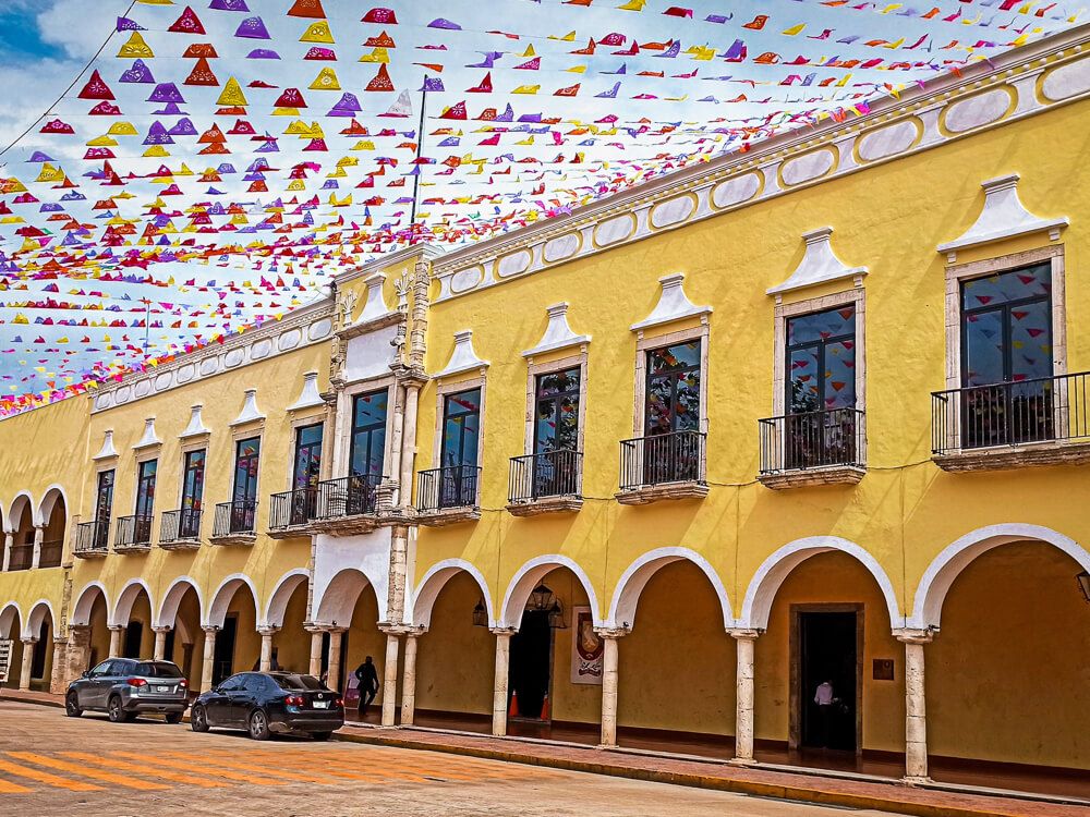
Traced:
<svg viewBox="0 0 1090 817">
<path fill-rule="evenodd" d="M 962 281 L 960 296 L 965 447 L 1052 439 L 1051 265 Z"/>
</svg>

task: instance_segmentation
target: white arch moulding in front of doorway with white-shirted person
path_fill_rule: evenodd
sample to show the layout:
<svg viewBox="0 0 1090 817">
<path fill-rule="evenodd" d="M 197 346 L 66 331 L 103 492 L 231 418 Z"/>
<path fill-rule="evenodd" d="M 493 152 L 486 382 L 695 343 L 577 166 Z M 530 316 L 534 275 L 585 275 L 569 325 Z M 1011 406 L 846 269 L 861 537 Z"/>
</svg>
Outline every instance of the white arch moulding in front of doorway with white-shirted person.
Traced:
<svg viewBox="0 0 1090 817">
<path fill-rule="evenodd" d="M 803 539 L 796 539 L 765 559 L 746 590 L 746 600 L 742 602 L 742 614 L 738 626 L 765 630 L 768 626 L 772 602 L 776 600 L 776 593 L 779 592 L 779 586 L 790 572 L 810 557 L 834 550 L 853 557 L 856 561 L 870 571 L 879 584 L 879 589 L 882 590 L 883 598 L 885 598 L 886 608 L 889 611 L 889 625 L 892 627 L 906 626 L 905 617 L 897 602 L 897 594 L 893 589 L 893 582 L 889 581 L 885 570 L 867 550 L 852 541 L 841 539 L 839 536 L 808 536 Z"/>
</svg>

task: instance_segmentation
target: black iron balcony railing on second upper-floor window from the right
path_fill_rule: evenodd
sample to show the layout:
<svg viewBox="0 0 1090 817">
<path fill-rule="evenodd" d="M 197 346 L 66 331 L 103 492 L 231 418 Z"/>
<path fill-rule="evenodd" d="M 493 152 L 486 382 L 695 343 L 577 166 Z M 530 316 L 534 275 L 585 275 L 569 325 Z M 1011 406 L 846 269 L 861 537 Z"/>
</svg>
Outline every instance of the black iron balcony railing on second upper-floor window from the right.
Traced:
<svg viewBox="0 0 1090 817">
<path fill-rule="evenodd" d="M 864 466 L 865 423 L 858 408 L 831 408 L 758 420 L 761 473 Z"/>
</svg>

